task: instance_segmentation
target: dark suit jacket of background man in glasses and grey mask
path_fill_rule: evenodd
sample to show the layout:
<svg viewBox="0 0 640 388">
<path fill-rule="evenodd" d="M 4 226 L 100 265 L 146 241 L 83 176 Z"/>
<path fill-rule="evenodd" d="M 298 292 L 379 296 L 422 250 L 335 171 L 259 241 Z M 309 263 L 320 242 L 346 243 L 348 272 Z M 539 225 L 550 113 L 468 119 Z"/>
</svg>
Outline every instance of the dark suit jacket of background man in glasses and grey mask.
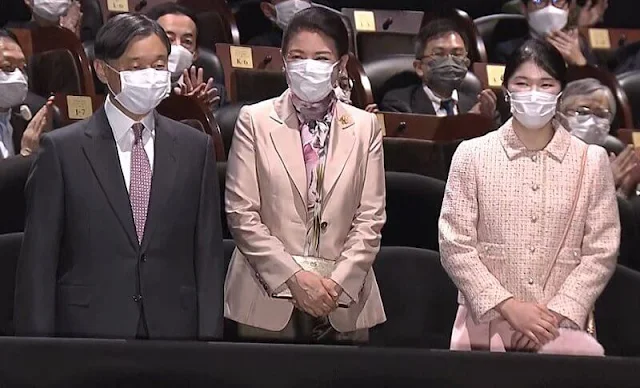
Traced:
<svg viewBox="0 0 640 388">
<path fill-rule="evenodd" d="M 458 91 L 458 112 L 467 113 L 478 102 L 476 95 Z M 387 92 L 380 103 L 383 112 L 417 113 L 435 115 L 433 104 L 424 92 L 422 84 L 412 85 L 402 89 Z"/>
</svg>

